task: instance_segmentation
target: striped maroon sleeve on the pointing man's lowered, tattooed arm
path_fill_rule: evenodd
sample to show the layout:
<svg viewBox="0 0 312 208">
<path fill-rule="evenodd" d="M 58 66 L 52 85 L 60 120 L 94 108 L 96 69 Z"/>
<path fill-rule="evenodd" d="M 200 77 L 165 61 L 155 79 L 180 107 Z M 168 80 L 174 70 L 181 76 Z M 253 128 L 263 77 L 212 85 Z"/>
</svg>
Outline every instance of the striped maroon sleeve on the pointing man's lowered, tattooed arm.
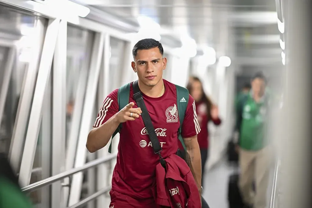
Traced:
<svg viewBox="0 0 312 208">
<path fill-rule="evenodd" d="M 195 101 L 191 95 L 188 98 L 188 106 L 186 108 L 184 120 L 182 123 L 182 137 L 189 138 L 197 135 L 201 131 L 197 121 Z"/>
</svg>

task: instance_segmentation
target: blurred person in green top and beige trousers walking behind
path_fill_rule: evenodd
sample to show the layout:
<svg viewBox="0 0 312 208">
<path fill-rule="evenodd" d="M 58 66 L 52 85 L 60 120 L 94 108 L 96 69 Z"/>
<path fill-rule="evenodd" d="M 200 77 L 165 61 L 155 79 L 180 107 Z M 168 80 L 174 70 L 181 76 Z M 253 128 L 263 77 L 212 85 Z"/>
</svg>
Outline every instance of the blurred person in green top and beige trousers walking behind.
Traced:
<svg viewBox="0 0 312 208">
<path fill-rule="evenodd" d="M 251 79 L 250 92 L 239 97 L 236 104 L 239 187 L 245 207 L 248 208 L 267 206 L 266 190 L 271 160 L 270 145 L 266 137 L 269 109 L 266 78 L 259 72 Z M 255 181 L 256 193 L 252 188 L 253 181 Z"/>
</svg>

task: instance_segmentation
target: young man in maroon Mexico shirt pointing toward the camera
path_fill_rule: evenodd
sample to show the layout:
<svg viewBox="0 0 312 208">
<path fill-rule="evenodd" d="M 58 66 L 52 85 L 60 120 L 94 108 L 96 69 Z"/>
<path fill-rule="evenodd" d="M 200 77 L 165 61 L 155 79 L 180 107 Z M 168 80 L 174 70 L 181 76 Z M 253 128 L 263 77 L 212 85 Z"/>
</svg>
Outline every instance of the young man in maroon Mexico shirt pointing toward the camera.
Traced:
<svg viewBox="0 0 312 208">
<path fill-rule="evenodd" d="M 139 78 L 139 88 L 151 117 L 155 132 L 166 158 L 178 150 L 178 128 L 180 121 L 177 112 L 177 93 L 174 84 L 163 80 L 163 70 L 167 59 L 163 57 L 163 47 L 154 39 L 137 42 L 132 51 L 131 63 Z M 130 85 L 129 104 L 119 111 L 118 89 L 104 100 L 94 128 L 90 131 L 86 147 L 95 152 L 107 145 L 112 134 L 122 124 L 118 145 L 117 163 L 113 172 L 110 207 L 154 208 L 152 184 L 159 156 L 154 153 L 143 123 L 141 109 L 133 99 Z M 201 157 L 197 143 L 200 128 L 197 122 L 194 99 L 189 95 L 182 136 L 187 147 L 186 161 L 191 168 L 198 191 L 201 193 Z"/>
</svg>

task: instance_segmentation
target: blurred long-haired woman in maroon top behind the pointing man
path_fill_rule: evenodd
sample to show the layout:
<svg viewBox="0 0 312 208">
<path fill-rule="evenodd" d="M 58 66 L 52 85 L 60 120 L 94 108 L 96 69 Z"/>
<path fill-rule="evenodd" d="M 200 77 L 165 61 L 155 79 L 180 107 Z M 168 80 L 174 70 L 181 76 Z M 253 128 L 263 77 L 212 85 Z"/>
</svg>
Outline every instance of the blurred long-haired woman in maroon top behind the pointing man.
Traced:
<svg viewBox="0 0 312 208">
<path fill-rule="evenodd" d="M 201 128 L 197 135 L 197 140 L 202 157 L 202 186 L 205 173 L 205 164 L 209 155 L 209 131 L 208 122 L 212 121 L 215 125 L 221 124 L 217 105 L 213 104 L 205 94 L 202 82 L 198 77 L 190 77 L 187 89 L 195 100 L 197 112 L 197 121 Z M 179 143 L 179 149 L 183 150 L 182 144 Z"/>
</svg>

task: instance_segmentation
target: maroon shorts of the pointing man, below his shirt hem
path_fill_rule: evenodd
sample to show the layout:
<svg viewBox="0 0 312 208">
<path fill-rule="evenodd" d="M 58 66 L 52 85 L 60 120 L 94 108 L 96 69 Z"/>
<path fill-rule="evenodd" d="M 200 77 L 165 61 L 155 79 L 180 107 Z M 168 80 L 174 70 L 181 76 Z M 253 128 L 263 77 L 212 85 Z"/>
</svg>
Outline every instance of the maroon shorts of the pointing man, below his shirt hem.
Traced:
<svg viewBox="0 0 312 208">
<path fill-rule="evenodd" d="M 110 191 L 110 208 L 162 208 L 152 199 L 137 200 L 117 191 Z"/>
</svg>

